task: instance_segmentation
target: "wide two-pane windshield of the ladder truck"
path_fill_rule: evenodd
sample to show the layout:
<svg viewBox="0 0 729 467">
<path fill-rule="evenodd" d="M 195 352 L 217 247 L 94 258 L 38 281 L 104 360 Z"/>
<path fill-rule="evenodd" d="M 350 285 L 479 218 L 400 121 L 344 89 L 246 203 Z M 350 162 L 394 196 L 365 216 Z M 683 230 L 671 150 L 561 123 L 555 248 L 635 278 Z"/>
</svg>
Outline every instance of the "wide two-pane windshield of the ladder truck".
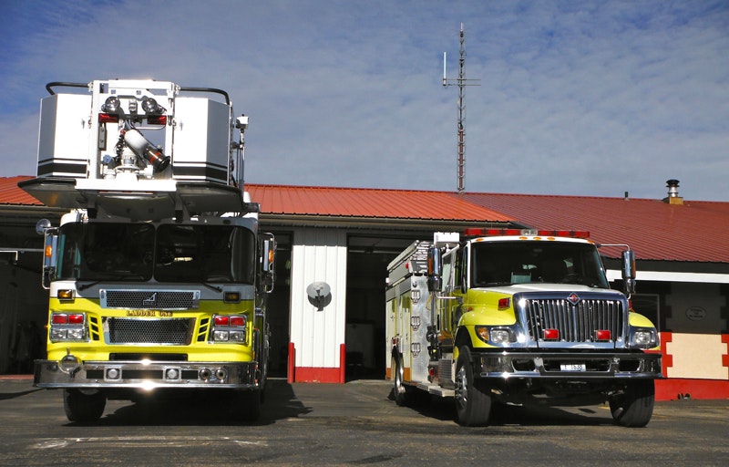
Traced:
<svg viewBox="0 0 729 467">
<path fill-rule="evenodd" d="M 233 225 L 68 223 L 56 279 L 252 284 L 253 234 Z"/>
</svg>

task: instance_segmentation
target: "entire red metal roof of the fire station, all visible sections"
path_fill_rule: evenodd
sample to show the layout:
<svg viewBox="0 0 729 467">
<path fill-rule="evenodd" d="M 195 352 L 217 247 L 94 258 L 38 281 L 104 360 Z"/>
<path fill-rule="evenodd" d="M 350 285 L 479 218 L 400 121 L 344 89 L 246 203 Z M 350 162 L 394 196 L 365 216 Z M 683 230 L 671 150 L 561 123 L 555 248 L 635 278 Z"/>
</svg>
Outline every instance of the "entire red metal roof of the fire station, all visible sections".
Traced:
<svg viewBox="0 0 729 467">
<path fill-rule="evenodd" d="M 0 204 L 41 205 L 0 177 Z M 508 222 L 590 231 L 601 244 L 630 244 L 639 259 L 729 264 L 729 202 L 421 192 L 247 184 L 262 213 Z"/>
</svg>

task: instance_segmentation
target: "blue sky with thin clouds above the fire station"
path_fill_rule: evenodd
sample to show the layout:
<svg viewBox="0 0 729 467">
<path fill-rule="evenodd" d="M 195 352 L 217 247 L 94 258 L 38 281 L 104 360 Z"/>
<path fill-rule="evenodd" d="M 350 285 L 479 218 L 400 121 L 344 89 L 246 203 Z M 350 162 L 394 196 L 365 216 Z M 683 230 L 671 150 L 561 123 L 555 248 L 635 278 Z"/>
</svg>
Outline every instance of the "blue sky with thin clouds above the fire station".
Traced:
<svg viewBox="0 0 729 467">
<path fill-rule="evenodd" d="M 148 5 L 149 4 L 149 5 Z M 727 1 L 2 0 L 0 176 L 50 81 L 223 88 L 246 182 L 729 202 Z"/>
</svg>

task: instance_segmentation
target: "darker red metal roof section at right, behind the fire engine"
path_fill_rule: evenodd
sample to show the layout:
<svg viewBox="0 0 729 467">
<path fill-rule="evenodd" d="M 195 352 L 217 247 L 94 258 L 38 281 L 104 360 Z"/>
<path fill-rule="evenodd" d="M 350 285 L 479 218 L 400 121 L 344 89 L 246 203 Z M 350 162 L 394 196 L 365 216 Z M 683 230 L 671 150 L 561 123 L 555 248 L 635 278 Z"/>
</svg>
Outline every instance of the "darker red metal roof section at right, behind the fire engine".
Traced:
<svg viewBox="0 0 729 467">
<path fill-rule="evenodd" d="M 539 229 L 590 231 L 642 260 L 729 263 L 729 202 L 468 193 L 465 199 Z"/>
</svg>

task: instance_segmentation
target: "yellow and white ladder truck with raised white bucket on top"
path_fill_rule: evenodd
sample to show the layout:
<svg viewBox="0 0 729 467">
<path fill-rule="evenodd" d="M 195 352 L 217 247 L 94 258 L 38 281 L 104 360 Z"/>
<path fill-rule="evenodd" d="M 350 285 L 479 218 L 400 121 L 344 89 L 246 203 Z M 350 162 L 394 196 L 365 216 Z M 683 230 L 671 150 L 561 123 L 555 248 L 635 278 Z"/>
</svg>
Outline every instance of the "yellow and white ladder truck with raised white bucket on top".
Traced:
<svg viewBox="0 0 729 467">
<path fill-rule="evenodd" d="M 248 117 L 221 89 L 168 81 L 46 89 L 37 177 L 18 185 L 68 212 L 37 227 L 49 310 L 35 385 L 62 389 L 72 421 L 192 389 L 256 419 L 275 241 L 242 184 Z"/>
</svg>

